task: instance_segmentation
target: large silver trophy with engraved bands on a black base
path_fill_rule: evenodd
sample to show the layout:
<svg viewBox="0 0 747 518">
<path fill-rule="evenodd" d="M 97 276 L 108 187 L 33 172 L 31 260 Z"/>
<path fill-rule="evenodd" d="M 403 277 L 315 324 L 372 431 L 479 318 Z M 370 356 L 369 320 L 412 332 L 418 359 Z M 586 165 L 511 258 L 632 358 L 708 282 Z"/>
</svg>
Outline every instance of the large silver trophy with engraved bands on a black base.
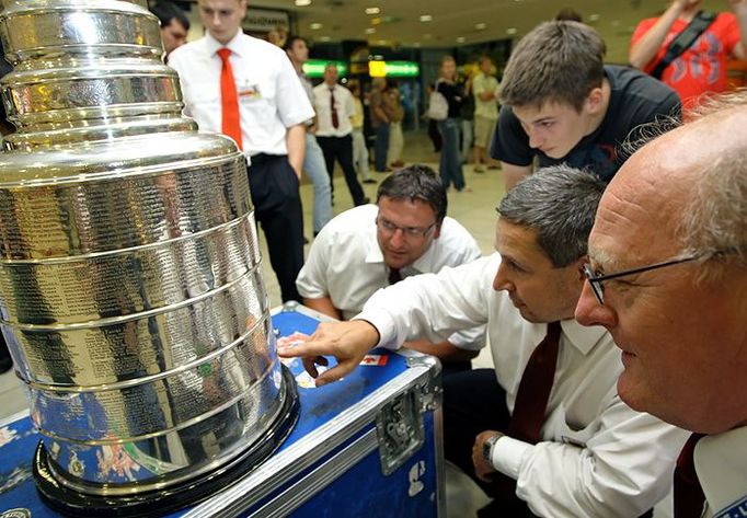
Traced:
<svg viewBox="0 0 747 518">
<path fill-rule="evenodd" d="M 71 514 L 206 497 L 298 415 L 244 157 L 181 115 L 145 3 L 0 0 L 0 324 Z"/>
</svg>

